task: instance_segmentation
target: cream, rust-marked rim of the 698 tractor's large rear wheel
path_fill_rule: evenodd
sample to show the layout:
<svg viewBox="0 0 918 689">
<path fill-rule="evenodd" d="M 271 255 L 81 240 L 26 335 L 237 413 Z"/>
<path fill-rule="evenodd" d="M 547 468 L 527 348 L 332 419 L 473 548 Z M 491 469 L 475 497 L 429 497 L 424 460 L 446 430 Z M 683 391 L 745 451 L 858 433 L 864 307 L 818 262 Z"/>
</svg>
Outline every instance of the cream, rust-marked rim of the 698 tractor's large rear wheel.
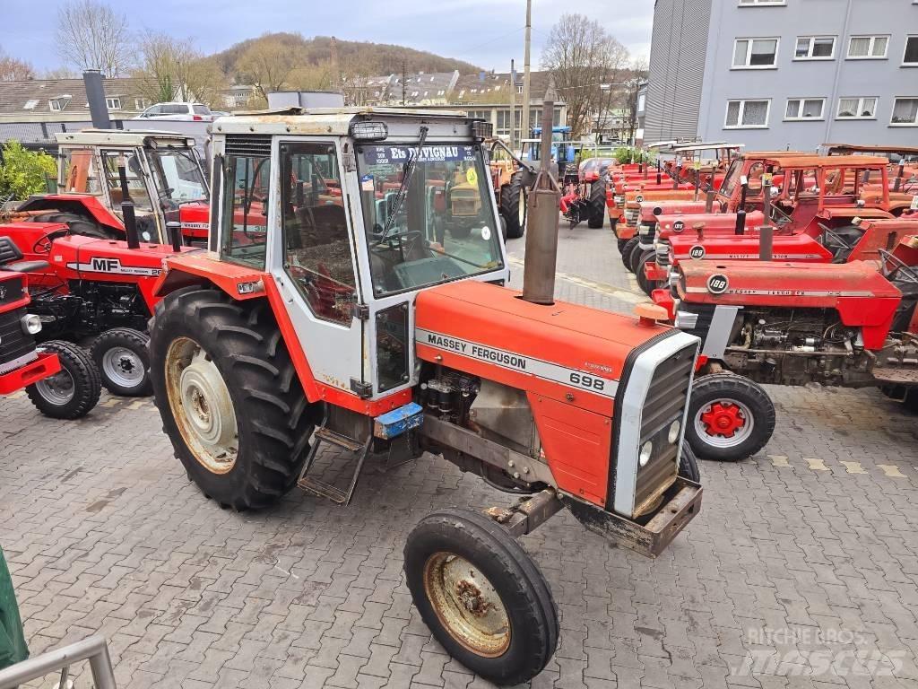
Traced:
<svg viewBox="0 0 918 689">
<path fill-rule="evenodd" d="M 185 445 L 205 469 L 228 473 L 239 456 L 239 426 L 229 389 L 207 352 L 179 337 L 169 345 L 166 393 Z"/>
</svg>

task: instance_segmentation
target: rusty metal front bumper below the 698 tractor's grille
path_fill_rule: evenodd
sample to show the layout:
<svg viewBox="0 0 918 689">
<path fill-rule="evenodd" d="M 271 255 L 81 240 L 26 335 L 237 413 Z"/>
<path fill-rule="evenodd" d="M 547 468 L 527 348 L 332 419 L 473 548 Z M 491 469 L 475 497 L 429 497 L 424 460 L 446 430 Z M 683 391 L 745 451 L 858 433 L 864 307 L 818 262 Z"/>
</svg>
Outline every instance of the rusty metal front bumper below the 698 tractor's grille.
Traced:
<svg viewBox="0 0 918 689">
<path fill-rule="evenodd" d="M 571 514 L 590 531 L 645 557 L 655 558 L 700 513 L 701 493 L 698 483 L 678 477 L 666 493 L 668 500 L 660 505 L 646 524 L 638 524 L 620 514 L 607 512 L 569 495 L 562 494 L 560 497 Z"/>
</svg>

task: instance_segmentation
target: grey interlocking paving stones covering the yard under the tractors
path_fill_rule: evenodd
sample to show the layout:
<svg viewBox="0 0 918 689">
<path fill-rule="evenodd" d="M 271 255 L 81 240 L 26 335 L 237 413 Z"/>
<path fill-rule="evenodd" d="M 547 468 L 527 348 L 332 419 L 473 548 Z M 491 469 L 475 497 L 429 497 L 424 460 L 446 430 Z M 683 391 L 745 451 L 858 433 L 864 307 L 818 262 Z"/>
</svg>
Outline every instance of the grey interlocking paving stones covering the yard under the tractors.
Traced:
<svg viewBox="0 0 918 689">
<path fill-rule="evenodd" d="M 558 268 L 559 298 L 640 300 L 608 229 L 563 230 Z M 915 418 L 874 390 L 769 391 L 774 440 L 702 463 L 701 514 L 661 558 L 565 513 L 523 538 L 562 627 L 533 687 L 918 688 Z M 186 480 L 151 401 L 61 423 L 0 400 L 0 544 L 31 649 L 104 634 L 120 687 L 487 686 L 421 623 L 401 548 L 434 508 L 505 502 L 425 456 L 369 467 L 348 508 L 293 492 L 235 514 Z"/>
</svg>

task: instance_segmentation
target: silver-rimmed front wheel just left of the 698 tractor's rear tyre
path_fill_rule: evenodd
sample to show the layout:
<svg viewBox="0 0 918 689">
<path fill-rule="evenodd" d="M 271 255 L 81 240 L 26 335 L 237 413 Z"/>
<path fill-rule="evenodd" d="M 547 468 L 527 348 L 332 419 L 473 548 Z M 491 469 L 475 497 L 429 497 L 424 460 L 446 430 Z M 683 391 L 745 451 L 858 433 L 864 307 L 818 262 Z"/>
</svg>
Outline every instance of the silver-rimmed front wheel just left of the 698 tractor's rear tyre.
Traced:
<svg viewBox="0 0 918 689">
<path fill-rule="evenodd" d="M 149 344 L 150 336 L 133 328 L 113 328 L 95 338 L 91 352 L 106 390 L 123 397 L 151 393 Z"/>
</svg>

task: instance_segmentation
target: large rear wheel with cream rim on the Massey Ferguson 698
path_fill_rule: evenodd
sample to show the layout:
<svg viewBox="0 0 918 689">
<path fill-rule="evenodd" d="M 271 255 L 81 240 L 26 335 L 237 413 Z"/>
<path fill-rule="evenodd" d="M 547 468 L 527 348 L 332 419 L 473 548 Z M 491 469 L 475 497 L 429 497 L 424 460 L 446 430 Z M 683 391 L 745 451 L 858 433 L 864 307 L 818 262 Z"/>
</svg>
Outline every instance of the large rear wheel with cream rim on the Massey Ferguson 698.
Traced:
<svg viewBox="0 0 918 689">
<path fill-rule="evenodd" d="M 267 301 L 173 292 L 150 322 L 150 361 L 163 431 L 207 497 L 244 510 L 293 488 L 315 409 Z"/>
</svg>

